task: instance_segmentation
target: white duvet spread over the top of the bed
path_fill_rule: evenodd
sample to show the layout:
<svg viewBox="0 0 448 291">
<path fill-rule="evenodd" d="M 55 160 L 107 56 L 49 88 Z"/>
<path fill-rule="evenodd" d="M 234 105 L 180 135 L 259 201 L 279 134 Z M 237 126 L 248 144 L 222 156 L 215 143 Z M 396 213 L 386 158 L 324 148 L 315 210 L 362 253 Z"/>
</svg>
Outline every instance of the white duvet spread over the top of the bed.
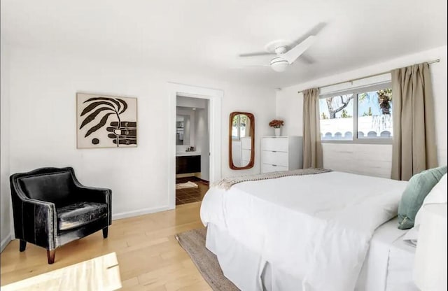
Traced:
<svg viewBox="0 0 448 291">
<path fill-rule="evenodd" d="M 353 290 L 374 229 L 397 214 L 407 183 L 330 172 L 212 187 L 201 218 L 260 254 L 302 290 Z M 297 288 L 299 289 L 299 288 Z"/>
</svg>

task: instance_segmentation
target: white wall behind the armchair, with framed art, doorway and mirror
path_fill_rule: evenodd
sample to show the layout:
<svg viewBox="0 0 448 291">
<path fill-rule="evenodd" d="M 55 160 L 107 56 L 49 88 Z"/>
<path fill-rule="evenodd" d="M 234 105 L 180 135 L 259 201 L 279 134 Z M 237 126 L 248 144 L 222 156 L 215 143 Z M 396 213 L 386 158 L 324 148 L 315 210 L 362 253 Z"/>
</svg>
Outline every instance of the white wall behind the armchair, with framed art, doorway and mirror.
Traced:
<svg viewBox="0 0 448 291">
<path fill-rule="evenodd" d="M 10 172 L 73 166 L 81 183 L 113 190 L 116 218 L 167 208 L 167 161 L 175 154 L 167 150 L 174 134 L 166 120 L 168 82 L 224 91 L 222 173 L 234 174 L 228 168 L 230 112 L 255 115 L 259 143 L 275 114 L 272 90 L 25 48 L 14 48 L 10 58 Z M 137 97 L 137 148 L 76 149 L 79 91 Z M 253 169 L 237 173 L 259 172 L 258 157 L 259 151 Z"/>
</svg>

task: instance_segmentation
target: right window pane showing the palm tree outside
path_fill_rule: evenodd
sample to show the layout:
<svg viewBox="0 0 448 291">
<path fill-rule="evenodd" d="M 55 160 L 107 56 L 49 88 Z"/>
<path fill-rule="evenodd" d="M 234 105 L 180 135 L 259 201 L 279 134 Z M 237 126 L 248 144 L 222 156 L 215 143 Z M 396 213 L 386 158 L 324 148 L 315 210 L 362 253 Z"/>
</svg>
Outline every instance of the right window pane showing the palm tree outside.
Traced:
<svg viewBox="0 0 448 291">
<path fill-rule="evenodd" d="M 391 136 L 392 90 L 358 94 L 358 139 L 389 139 Z"/>
</svg>

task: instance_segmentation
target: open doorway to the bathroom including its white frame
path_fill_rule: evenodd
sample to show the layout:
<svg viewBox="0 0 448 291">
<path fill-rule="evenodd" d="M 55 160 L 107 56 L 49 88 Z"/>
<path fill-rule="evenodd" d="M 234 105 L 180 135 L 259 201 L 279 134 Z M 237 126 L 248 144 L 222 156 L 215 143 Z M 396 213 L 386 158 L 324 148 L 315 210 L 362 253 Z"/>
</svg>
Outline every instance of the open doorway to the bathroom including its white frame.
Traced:
<svg viewBox="0 0 448 291">
<path fill-rule="evenodd" d="M 172 132 L 168 141 L 168 208 L 175 208 L 176 202 L 179 205 L 181 202 L 202 199 L 208 186 L 221 180 L 223 91 L 168 83 L 168 93 L 168 129 Z M 196 101 L 196 105 L 182 103 L 190 101 Z M 179 114 L 178 106 L 181 107 Z M 198 111 L 198 108 L 201 109 Z M 184 173 L 180 173 L 179 169 Z M 179 199 L 176 199 L 176 184 L 178 190 L 181 190 L 178 194 L 183 194 Z"/>
</svg>

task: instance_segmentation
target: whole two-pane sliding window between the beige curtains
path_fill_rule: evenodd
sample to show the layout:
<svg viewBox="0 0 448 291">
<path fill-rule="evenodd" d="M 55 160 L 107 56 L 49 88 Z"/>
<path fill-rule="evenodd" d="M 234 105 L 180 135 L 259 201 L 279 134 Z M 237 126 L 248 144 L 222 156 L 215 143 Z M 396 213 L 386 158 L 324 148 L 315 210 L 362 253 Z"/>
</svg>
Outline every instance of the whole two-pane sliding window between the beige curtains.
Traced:
<svg viewBox="0 0 448 291">
<path fill-rule="evenodd" d="M 391 84 L 363 87 L 319 99 L 322 141 L 390 143 Z"/>
</svg>

